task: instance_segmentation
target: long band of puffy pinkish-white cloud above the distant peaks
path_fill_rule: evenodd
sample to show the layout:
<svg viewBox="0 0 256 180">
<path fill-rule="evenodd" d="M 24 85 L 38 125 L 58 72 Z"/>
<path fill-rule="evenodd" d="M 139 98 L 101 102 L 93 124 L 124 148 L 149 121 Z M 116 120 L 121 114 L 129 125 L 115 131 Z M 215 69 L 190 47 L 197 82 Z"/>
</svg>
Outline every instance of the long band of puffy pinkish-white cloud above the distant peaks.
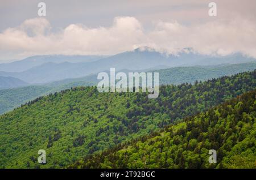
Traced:
<svg viewBox="0 0 256 180">
<path fill-rule="evenodd" d="M 0 54 L 15 58 L 38 54 L 116 54 L 150 46 L 167 53 L 189 47 L 201 54 L 242 52 L 256 58 L 255 42 L 255 22 L 241 18 L 197 25 L 159 21 L 146 31 L 137 19 L 125 16 L 114 18 L 110 27 L 70 24 L 58 32 L 51 31 L 47 19 L 35 18 L 0 33 Z"/>
</svg>

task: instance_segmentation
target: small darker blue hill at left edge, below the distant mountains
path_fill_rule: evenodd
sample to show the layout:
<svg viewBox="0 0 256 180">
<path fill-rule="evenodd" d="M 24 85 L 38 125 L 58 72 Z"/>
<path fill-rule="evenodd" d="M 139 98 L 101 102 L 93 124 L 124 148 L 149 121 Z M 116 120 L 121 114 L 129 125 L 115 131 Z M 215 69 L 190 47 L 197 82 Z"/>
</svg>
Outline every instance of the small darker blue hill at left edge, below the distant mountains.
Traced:
<svg viewBox="0 0 256 180">
<path fill-rule="evenodd" d="M 18 78 L 0 76 L 0 89 L 9 89 L 26 86 L 28 83 Z"/>
</svg>

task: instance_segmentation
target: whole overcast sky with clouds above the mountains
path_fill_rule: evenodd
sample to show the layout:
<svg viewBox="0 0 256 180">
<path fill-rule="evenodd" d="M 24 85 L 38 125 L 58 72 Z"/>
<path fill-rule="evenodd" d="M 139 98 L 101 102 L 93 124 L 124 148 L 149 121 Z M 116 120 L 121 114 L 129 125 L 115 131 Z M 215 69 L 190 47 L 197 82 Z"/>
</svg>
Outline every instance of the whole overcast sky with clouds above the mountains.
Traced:
<svg viewBox="0 0 256 180">
<path fill-rule="evenodd" d="M 46 3 L 46 16 L 38 3 Z M 217 16 L 209 16 L 215 2 Z M 0 62 L 31 55 L 112 55 L 149 46 L 256 58 L 255 0 L 1 0 Z"/>
</svg>

